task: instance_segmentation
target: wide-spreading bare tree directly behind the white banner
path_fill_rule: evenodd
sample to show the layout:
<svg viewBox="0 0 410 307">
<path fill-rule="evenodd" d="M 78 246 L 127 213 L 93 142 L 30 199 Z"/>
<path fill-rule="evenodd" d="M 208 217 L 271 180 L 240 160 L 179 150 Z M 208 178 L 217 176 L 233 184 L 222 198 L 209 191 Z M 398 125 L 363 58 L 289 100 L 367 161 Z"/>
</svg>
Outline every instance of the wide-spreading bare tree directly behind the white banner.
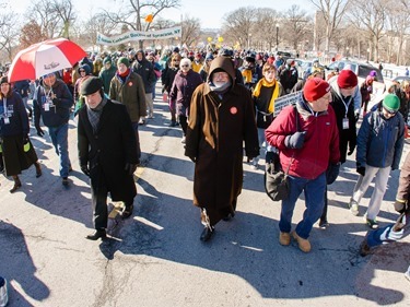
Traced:
<svg viewBox="0 0 410 307">
<path fill-rule="evenodd" d="M 129 28 L 142 31 L 144 25 L 144 31 L 148 31 L 151 23 L 144 23 L 142 19 L 148 14 L 152 14 L 153 20 L 162 11 L 166 9 L 178 8 L 180 5 L 180 0 L 128 0 L 125 1 L 124 5 L 120 5 L 117 12 L 109 12 L 104 10 L 108 19 L 114 23 L 125 24 Z M 140 40 L 140 48 L 143 47 L 143 42 Z"/>
</svg>

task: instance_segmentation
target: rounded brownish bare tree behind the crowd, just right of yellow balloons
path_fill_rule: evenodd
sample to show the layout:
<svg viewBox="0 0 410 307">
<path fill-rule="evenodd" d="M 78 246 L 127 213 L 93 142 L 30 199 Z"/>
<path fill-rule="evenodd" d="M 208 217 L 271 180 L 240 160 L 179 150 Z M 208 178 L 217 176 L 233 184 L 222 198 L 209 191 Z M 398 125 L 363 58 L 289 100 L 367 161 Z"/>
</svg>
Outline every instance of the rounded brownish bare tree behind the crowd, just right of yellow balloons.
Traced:
<svg viewBox="0 0 410 307">
<path fill-rule="evenodd" d="M 239 8 L 225 14 L 223 36 L 233 42 L 239 42 L 242 48 L 250 48 L 253 39 L 253 26 L 256 21 L 257 10 L 255 8 Z"/>
</svg>

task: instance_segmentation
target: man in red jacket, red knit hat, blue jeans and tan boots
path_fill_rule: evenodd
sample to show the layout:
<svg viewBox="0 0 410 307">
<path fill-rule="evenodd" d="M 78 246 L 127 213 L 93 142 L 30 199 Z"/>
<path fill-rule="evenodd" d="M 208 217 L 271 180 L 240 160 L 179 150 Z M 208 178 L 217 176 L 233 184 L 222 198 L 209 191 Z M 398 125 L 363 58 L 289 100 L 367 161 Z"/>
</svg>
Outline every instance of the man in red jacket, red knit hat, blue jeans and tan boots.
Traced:
<svg viewBox="0 0 410 307">
<path fill-rule="evenodd" d="M 304 252 L 311 251 L 308 237 L 324 208 L 326 181 L 339 174 L 339 132 L 330 102 L 330 85 L 319 78 L 309 79 L 296 106 L 283 108 L 265 132 L 267 141 L 280 151 L 282 168 L 289 169 L 290 192 L 282 201 L 279 243 L 288 246 L 293 236 Z M 291 234 L 293 210 L 302 191 L 306 210 Z"/>
</svg>

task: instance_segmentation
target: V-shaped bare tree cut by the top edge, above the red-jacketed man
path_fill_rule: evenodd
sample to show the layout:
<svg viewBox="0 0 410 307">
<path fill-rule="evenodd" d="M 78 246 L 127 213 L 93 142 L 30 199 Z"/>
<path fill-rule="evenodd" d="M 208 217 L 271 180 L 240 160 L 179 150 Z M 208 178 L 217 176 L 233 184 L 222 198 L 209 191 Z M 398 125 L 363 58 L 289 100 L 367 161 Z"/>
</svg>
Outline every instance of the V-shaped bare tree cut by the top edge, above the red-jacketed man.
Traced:
<svg viewBox="0 0 410 307">
<path fill-rule="evenodd" d="M 351 0 L 311 0 L 311 2 L 321 12 L 325 21 L 325 51 L 328 52 L 335 29 L 343 19 Z"/>
</svg>

